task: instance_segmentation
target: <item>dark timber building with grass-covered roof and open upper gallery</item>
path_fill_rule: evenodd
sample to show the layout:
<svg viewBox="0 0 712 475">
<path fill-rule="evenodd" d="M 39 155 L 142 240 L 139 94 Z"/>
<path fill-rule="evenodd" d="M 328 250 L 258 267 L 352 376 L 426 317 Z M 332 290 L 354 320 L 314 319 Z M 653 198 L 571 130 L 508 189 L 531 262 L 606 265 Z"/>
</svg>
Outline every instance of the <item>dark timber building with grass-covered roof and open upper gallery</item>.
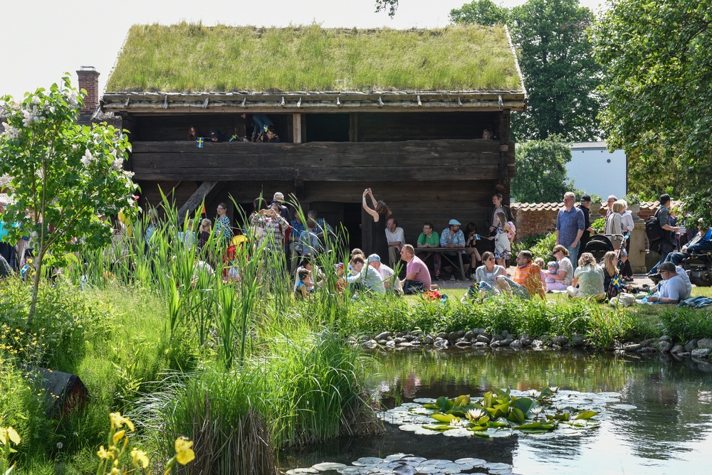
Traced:
<svg viewBox="0 0 712 475">
<path fill-rule="evenodd" d="M 214 60 L 217 50 L 227 56 Z M 135 26 L 107 90 L 101 107 L 130 132 L 142 201 L 159 203 L 160 187 L 178 207 L 204 198 L 211 216 L 219 202 L 249 212 L 281 191 L 342 223 L 352 246 L 370 230 L 367 187 L 413 244 L 424 221 L 481 227 L 496 189 L 509 199 L 510 117 L 526 106 L 497 27 Z M 253 114 L 270 117 L 281 143 L 187 140 L 192 126 L 250 134 Z"/>
</svg>

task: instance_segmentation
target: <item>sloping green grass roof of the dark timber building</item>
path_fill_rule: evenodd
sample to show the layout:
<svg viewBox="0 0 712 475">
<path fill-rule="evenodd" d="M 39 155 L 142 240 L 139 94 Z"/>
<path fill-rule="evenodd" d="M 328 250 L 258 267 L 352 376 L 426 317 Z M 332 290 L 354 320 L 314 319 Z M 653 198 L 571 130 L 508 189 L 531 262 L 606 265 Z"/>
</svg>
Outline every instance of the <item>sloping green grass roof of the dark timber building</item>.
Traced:
<svg viewBox="0 0 712 475">
<path fill-rule="evenodd" d="M 523 90 L 503 27 L 132 26 L 112 92 Z"/>
</svg>

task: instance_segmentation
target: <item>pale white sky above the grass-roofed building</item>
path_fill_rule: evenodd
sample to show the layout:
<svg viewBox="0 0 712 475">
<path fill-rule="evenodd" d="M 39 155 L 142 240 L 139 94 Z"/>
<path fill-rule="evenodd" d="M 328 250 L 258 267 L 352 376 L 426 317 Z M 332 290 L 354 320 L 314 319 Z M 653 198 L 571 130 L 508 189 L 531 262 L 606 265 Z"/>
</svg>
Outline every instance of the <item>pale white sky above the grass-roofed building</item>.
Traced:
<svg viewBox="0 0 712 475">
<path fill-rule="evenodd" d="M 0 32 L 6 47 L 0 62 L 0 97 L 17 99 L 49 87 L 68 72 L 93 66 L 106 80 L 130 26 L 170 25 L 180 21 L 204 26 L 289 26 L 319 23 L 324 28 L 435 28 L 449 23 L 451 9 L 466 0 L 400 0 L 394 18 L 375 13 L 373 0 L 0 0 Z M 495 0 L 505 6 L 523 0 Z M 602 0 L 580 0 L 597 11 Z"/>
</svg>

